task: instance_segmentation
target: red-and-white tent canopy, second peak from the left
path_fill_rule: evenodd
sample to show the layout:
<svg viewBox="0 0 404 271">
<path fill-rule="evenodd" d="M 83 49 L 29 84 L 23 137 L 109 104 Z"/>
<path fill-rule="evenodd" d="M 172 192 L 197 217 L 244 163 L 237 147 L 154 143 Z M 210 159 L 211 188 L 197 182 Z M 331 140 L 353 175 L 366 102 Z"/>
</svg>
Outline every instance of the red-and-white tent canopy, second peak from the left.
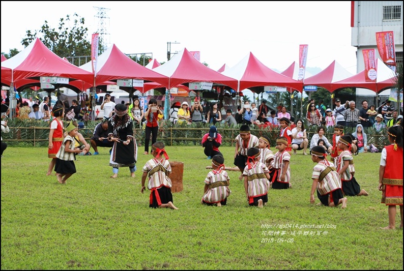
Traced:
<svg viewBox="0 0 404 271">
<path fill-rule="evenodd" d="M 80 66 L 80 68 L 89 72 L 93 71 L 91 61 Z M 168 86 L 167 76 L 137 64 L 121 52 L 115 44 L 98 56 L 96 69 L 96 86 L 105 81 L 117 79 L 139 79 Z"/>
</svg>

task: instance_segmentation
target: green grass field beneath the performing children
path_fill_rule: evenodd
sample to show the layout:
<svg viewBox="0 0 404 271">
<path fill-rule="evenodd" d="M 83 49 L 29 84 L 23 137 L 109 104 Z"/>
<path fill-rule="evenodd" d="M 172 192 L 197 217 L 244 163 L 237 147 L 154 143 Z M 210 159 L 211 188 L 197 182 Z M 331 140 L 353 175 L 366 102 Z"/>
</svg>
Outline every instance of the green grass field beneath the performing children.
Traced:
<svg viewBox="0 0 404 271">
<path fill-rule="evenodd" d="M 179 210 L 151 209 L 136 177 L 111 179 L 107 148 L 78 156 L 67 185 L 46 176 L 46 148 L 9 147 L 2 158 L 2 269 L 402 269 L 399 212 L 395 230 L 377 190 L 380 154 L 354 157 L 367 197 L 347 209 L 310 204 L 310 156 L 293 155 L 293 188 L 270 190 L 267 206 L 248 206 L 240 172 L 228 171 L 223 207 L 200 204 L 211 165 L 200 146 L 166 147 L 184 162 Z M 233 166 L 234 147 L 221 147 Z M 316 203 L 319 200 L 316 198 Z M 271 227 L 271 228 L 263 228 Z M 305 227 L 315 228 L 305 228 Z"/>
</svg>

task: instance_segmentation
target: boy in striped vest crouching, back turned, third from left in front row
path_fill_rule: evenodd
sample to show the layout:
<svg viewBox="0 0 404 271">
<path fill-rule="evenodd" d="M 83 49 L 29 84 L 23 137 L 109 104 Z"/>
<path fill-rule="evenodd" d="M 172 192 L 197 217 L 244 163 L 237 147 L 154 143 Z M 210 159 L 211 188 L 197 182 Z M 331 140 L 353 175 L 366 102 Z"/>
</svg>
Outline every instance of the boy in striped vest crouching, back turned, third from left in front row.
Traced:
<svg viewBox="0 0 404 271">
<path fill-rule="evenodd" d="M 271 186 L 267 166 L 259 162 L 259 149 L 249 148 L 247 166 L 244 168 L 244 190 L 250 206 L 262 208 L 268 202 L 268 190 Z"/>
</svg>

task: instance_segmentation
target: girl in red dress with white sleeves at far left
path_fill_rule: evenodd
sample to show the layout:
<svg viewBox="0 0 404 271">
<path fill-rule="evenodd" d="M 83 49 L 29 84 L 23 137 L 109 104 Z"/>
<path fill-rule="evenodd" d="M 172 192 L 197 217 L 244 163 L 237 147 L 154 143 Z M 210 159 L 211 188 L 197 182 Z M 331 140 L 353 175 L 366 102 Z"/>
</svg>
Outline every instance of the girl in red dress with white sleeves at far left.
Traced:
<svg viewBox="0 0 404 271">
<path fill-rule="evenodd" d="M 49 130 L 49 146 L 48 146 L 48 157 L 52 160 L 49 163 L 47 176 L 52 174 L 53 167 L 56 163 L 56 154 L 62 145 L 64 134 L 63 134 L 63 121 L 65 116 L 65 109 L 62 106 L 55 106 L 52 110 L 53 119 L 50 122 Z"/>
</svg>

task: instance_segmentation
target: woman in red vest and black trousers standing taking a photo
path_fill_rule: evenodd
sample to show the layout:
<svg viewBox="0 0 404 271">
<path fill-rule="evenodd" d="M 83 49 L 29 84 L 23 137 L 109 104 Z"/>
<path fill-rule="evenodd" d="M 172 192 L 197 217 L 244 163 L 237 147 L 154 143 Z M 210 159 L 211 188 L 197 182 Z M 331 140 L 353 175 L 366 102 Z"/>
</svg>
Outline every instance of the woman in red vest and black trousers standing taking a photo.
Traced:
<svg viewBox="0 0 404 271">
<path fill-rule="evenodd" d="M 146 136 L 145 136 L 145 155 L 149 154 L 150 135 L 152 136 L 152 145 L 157 141 L 157 133 L 159 131 L 158 115 L 163 112 L 157 106 L 156 99 L 149 100 L 149 106 L 145 113 L 146 123 Z"/>
</svg>

